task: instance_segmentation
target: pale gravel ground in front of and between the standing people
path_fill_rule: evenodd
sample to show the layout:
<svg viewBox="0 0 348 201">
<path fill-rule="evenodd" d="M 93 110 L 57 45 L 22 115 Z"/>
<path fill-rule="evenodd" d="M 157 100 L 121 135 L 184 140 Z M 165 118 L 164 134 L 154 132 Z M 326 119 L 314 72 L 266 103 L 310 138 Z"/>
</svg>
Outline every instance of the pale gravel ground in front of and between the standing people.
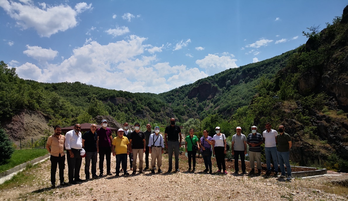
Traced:
<svg viewBox="0 0 348 201">
<path fill-rule="evenodd" d="M 168 169 L 167 154 L 163 155 L 164 172 Z M 173 157 L 174 158 L 174 157 Z M 104 176 L 82 184 L 50 188 L 50 161 L 23 171 L 21 178 L 0 185 L 1 200 L 347 200 L 345 195 L 326 193 L 312 188 L 324 185 L 315 179 L 292 181 L 276 177 L 227 175 L 216 173 L 215 159 L 213 174 L 203 172 L 204 164 L 196 165 L 195 173 L 188 172 L 187 158 L 180 156 L 180 172 L 151 175 L 145 174 Z M 145 163 L 145 162 L 144 162 Z M 215 163 L 215 166 L 214 166 Z M 112 172 L 115 159 L 111 158 Z M 144 164 L 145 165 L 145 164 Z M 174 161 L 173 161 L 174 165 Z M 104 168 L 106 165 L 104 164 Z M 97 167 L 98 168 L 98 167 Z M 128 161 L 129 168 L 129 161 Z M 214 173 L 215 171 L 215 173 Z M 132 171 L 128 171 L 132 173 Z M 68 180 L 68 166 L 65 167 L 65 181 Z M 97 169 L 98 173 L 98 169 Z M 57 170 L 57 181 L 58 170 Z M 85 178 L 84 159 L 80 171 Z M 57 183 L 58 184 L 58 183 Z"/>
</svg>

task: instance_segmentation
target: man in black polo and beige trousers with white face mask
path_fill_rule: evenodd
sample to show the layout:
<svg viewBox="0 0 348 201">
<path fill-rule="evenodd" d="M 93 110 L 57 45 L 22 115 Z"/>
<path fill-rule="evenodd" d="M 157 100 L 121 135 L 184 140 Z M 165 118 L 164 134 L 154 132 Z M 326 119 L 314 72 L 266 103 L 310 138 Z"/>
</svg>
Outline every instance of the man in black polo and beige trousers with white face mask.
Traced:
<svg viewBox="0 0 348 201">
<path fill-rule="evenodd" d="M 133 173 L 136 173 L 136 157 L 139 156 L 139 173 L 145 173 L 143 171 L 143 156 L 145 153 L 145 134 L 140 131 L 140 123 L 134 123 L 134 131 L 129 136 L 130 153 L 133 154 Z"/>
</svg>

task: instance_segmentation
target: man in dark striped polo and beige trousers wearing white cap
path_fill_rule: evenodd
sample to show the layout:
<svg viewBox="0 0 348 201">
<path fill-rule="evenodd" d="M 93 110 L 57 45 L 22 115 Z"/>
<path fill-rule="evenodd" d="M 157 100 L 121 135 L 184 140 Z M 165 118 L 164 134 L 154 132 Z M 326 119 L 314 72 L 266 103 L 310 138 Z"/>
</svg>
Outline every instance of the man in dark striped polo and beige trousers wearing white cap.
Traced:
<svg viewBox="0 0 348 201">
<path fill-rule="evenodd" d="M 262 135 L 257 132 L 258 127 L 251 127 L 251 134 L 246 138 L 249 145 L 250 168 L 249 174 L 255 174 L 255 159 L 257 162 L 258 174 L 261 174 L 261 144 L 263 143 Z"/>
</svg>

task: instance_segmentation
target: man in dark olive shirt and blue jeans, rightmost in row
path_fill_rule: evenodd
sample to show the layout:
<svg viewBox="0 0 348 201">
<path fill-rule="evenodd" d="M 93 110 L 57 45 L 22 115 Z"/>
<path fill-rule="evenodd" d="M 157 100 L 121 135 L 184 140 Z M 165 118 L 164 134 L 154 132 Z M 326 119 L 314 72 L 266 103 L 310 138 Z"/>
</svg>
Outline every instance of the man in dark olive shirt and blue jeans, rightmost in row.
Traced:
<svg viewBox="0 0 348 201">
<path fill-rule="evenodd" d="M 277 155 L 278 155 L 278 163 L 280 166 L 280 170 L 282 171 L 282 174 L 279 175 L 280 178 L 285 178 L 285 168 L 284 163 L 286 165 L 287 170 L 287 179 L 291 180 L 291 166 L 290 166 L 290 159 L 289 159 L 289 151 L 292 146 L 291 137 L 289 134 L 284 132 L 284 126 L 280 125 L 278 129 L 278 136 L 277 136 Z"/>
</svg>

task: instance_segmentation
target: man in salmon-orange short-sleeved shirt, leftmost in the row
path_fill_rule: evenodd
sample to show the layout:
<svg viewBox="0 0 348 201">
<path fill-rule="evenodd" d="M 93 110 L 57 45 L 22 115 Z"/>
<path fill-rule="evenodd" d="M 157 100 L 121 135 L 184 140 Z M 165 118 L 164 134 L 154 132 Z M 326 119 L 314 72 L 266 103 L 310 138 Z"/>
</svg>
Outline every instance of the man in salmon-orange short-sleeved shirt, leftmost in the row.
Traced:
<svg viewBox="0 0 348 201">
<path fill-rule="evenodd" d="M 64 168 L 65 168 L 65 153 L 64 153 L 65 136 L 61 135 L 61 127 L 54 127 L 54 135 L 47 139 L 46 149 L 51 154 L 51 184 L 52 188 L 56 187 L 56 171 L 57 164 L 59 166 L 59 179 L 61 185 L 68 185 L 64 182 Z"/>
</svg>

